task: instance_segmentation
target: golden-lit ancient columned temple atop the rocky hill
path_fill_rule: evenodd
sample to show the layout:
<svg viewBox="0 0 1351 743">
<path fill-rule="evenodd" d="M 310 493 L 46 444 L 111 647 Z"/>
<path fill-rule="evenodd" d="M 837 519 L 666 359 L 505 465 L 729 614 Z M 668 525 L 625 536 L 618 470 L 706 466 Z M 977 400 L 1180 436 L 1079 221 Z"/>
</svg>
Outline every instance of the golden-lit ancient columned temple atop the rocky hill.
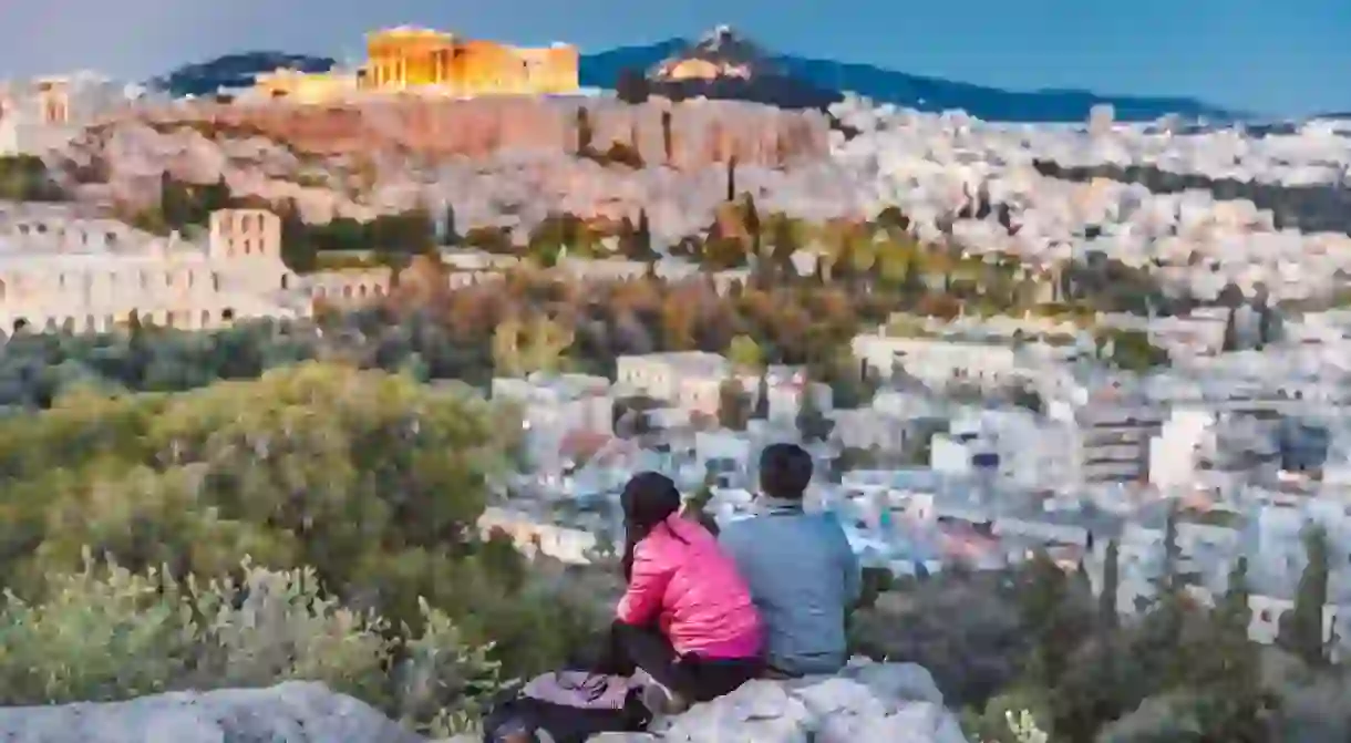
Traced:
<svg viewBox="0 0 1351 743">
<path fill-rule="evenodd" d="M 577 63 L 577 49 L 567 45 L 524 49 L 400 27 L 366 36 L 366 65 L 351 78 L 278 70 L 259 76 L 258 88 L 270 97 L 305 101 L 336 97 L 343 88 L 455 97 L 573 93 Z"/>
</svg>

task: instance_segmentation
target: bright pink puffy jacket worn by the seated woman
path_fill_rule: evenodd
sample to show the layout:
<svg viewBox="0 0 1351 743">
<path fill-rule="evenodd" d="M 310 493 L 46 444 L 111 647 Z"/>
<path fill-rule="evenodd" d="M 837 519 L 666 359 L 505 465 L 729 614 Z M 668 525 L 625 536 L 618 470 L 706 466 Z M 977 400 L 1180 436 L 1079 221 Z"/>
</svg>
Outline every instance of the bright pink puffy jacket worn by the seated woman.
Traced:
<svg viewBox="0 0 1351 743">
<path fill-rule="evenodd" d="M 673 515 L 634 548 L 634 573 L 616 612 L 626 624 L 653 620 L 681 655 L 755 658 L 759 613 L 717 539 Z"/>
</svg>

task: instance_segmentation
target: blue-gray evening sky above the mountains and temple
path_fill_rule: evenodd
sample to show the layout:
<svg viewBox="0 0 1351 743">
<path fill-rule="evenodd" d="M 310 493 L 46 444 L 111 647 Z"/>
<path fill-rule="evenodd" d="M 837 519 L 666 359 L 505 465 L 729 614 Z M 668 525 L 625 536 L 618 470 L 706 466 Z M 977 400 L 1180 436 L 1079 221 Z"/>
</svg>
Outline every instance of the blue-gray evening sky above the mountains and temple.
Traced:
<svg viewBox="0 0 1351 743">
<path fill-rule="evenodd" d="M 230 51 L 359 59 L 413 24 L 584 53 L 720 24 L 777 51 L 1008 89 L 1351 111 L 1351 0 L 0 0 L 0 78 L 143 80 Z"/>
</svg>

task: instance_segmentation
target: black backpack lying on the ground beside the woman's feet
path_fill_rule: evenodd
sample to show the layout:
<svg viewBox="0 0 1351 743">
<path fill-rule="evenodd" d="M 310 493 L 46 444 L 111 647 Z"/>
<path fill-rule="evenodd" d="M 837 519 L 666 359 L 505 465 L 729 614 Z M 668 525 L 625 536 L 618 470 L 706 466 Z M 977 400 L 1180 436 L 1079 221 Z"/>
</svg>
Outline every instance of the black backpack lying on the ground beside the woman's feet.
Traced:
<svg viewBox="0 0 1351 743">
<path fill-rule="evenodd" d="M 508 689 L 489 705 L 484 743 L 585 743 L 601 732 L 640 732 L 651 723 L 627 678 L 558 671 Z"/>
</svg>

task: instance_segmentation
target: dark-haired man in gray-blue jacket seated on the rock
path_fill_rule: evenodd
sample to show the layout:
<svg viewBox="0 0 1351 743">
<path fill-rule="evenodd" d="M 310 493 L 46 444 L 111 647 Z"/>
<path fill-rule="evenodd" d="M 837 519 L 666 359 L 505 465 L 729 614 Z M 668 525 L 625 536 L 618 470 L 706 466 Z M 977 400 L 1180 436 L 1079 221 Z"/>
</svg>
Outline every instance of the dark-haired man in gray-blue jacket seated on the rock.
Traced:
<svg viewBox="0 0 1351 743">
<path fill-rule="evenodd" d="M 802 511 L 812 457 L 796 444 L 761 454 L 761 513 L 728 524 L 719 542 L 736 561 L 766 631 L 778 675 L 830 674 L 848 661 L 844 617 L 858 601 L 858 558 L 839 521 Z"/>
</svg>

